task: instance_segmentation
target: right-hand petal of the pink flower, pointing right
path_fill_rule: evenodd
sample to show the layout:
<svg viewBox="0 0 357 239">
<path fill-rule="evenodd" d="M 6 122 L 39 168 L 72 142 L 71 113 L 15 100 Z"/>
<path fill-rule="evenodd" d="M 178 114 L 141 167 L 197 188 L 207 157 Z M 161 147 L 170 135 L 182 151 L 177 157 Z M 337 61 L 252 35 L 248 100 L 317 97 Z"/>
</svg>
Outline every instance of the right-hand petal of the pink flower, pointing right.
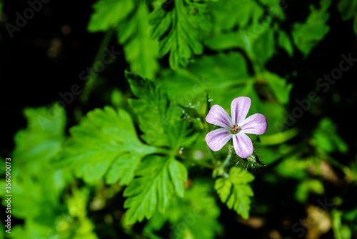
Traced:
<svg viewBox="0 0 357 239">
<path fill-rule="evenodd" d="M 263 134 L 266 133 L 267 128 L 266 116 L 261 113 L 255 113 L 241 123 L 242 133 Z"/>
</svg>

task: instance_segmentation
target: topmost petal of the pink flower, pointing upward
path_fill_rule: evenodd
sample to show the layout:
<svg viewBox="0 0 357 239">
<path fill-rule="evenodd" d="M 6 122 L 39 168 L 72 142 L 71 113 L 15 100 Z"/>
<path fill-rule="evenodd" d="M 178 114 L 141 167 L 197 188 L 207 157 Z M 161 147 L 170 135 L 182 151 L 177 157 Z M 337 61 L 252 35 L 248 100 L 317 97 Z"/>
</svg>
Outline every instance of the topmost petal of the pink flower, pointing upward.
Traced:
<svg viewBox="0 0 357 239">
<path fill-rule="evenodd" d="M 231 115 L 233 125 L 241 123 L 248 114 L 249 108 L 251 108 L 251 98 L 241 96 L 233 99 L 231 103 Z"/>
</svg>

